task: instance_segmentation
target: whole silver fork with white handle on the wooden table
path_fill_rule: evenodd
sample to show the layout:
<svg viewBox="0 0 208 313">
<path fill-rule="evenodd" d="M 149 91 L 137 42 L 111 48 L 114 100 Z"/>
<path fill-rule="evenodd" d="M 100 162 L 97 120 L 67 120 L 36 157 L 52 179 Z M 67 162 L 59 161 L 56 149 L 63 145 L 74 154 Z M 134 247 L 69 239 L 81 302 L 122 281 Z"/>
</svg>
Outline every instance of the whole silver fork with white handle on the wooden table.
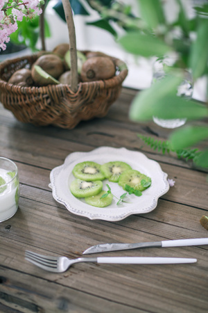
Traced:
<svg viewBox="0 0 208 313">
<path fill-rule="evenodd" d="M 183 264 L 196 263 L 197 259 L 180 257 L 49 257 L 26 250 L 25 259 L 46 271 L 63 273 L 74 263 L 94 262 L 103 264 Z"/>
</svg>

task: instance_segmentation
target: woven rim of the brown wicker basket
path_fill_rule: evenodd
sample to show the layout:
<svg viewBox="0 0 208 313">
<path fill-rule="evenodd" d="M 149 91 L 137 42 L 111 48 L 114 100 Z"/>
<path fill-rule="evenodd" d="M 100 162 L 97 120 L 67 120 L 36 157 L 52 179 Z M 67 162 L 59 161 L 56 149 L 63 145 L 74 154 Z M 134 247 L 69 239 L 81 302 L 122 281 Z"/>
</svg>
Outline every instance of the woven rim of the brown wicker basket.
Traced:
<svg viewBox="0 0 208 313">
<path fill-rule="evenodd" d="M 51 51 L 49 51 L 50 53 Z M 85 50 L 85 51 L 81 51 L 84 54 L 89 52 L 89 50 Z M 109 56 L 110 58 L 112 58 L 112 60 L 114 61 L 116 67 L 118 67 L 118 69 L 120 69 L 120 67 L 122 66 L 122 69 L 120 70 L 120 72 L 118 74 L 116 74 L 114 77 L 112 77 L 111 79 L 102 79 L 102 80 L 98 80 L 98 81 L 87 81 L 87 82 L 80 82 L 78 83 L 78 90 L 76 91 L 76 93 L 74 93 L 70 86 L 67 84 L 58 84 L 58 85 L 48 85 L 48 86 L 31 86 L 31 87 L 23 87 L 23 86 L 17 86 L 14 85 L 12 83 L 8 83 L 7 81 L 4 81 L 3 79 L 1 79 L 1 70 L 3 70 L 3 68 L 5 68 L 6 66 L 12 64 L 12 63 L 18 63 L 19 61 L 23 61 L 23 60 L 29 60 L 29 58 L 34 58 L 37 59 L 40 56 L 40 52 L 37 52 L 35 54 L 31 54 L 31 55 L 26 55 L 26 56 L 21 56 L 21 57 L 17 57 L 17 58 L 11 58 L 11 59 L 7 59 L 5 61 L 3 61 L 2 63 L 0 63 L 0 85 L 1 88 L 2 86 L 5 87 L 7 90 L 12 90 L 14 92 L 14 88 L 17 90 L 17 93 L 21 93 L 21 91 L 23 93 L 47 93 L 47 90 L 51 90 L 51 88 L 55 88 L 55 89 L 64 89 L 66 91 L 69 91 L 71 94 L 76 95 L 76 93 L 79 92 L 79 90 L 82 88 L 82 86 L 99 86 L 99 88 L 103 89 L 103 88 L 110 88 L 112 86 L 112 88 L 116 87 L 117 85 L 120 85 L 123 80 L 125 79 L 125 77 L 128 74 L 128 67 L 125 64 L 125 62 L 121 61 L 119 58 L 116 58 L 114 56 Z M 23 68 L 23 67 L 22 67 Z"/>
</svg>

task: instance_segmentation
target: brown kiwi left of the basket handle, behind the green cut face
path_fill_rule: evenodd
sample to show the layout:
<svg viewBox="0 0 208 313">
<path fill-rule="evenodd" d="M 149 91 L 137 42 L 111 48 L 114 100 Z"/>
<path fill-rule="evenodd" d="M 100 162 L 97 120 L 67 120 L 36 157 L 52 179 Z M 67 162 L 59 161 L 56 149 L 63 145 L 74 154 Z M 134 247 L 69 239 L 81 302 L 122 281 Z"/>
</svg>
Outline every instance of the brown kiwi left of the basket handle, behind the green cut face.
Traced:
<svg viewBox="0 0 208 313">
<path fill-rule="evenodd" d="M 32 77 L 34 73 L 33 71 L 34 65 L 42 67 L 42 69 L 45 72 L 50 74 L 55 79 L 58 79 L 58 77 L 60 77 L 60 75 L 64 72 L 64 64 L 62 62 L 62 59 L 55 54 L 44 54 L 43 56 L 37 58 L 37 60 L 35 61 L 35 63 L 33 63 L 32 66 Z M 38 81 L 35 82 L 37 82 L 40 85 Z"/>
</svg>

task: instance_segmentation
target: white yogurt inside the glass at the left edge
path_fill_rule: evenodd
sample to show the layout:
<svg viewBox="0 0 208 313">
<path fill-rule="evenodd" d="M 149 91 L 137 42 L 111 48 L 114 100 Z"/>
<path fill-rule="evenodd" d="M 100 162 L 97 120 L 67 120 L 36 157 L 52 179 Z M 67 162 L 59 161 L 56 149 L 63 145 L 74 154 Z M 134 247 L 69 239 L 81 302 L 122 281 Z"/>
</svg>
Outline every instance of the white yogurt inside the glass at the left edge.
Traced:
<svg viewBox="0 0 208 313">
<path fill-rule="evenodd" d="M 18 208 L 19 179 L 18 176 L 12 177 L 12 175 L 15 176 L 15 172 L 0 168 L 0 177 L 6 182 L 0 186 L 0 222 L 12 217 Z"/>
</svg>

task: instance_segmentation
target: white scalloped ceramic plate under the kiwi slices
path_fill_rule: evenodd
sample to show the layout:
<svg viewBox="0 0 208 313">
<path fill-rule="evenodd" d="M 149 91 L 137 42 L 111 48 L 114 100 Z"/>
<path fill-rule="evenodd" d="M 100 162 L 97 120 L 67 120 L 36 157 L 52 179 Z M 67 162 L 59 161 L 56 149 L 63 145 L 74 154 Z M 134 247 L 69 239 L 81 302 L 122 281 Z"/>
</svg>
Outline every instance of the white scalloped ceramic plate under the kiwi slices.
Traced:
<svg viewBox="0 0 208 313">
<path fill-rule="evenodd" d="M 72 174 L 73 167 L 77 163 L 84 161 L 94 161 L 99 164 L 110 161 L 123 161 L 128 163 L 132 169 L 139 170 L 152 179 L 151 186 L 142 192 L 140 197 L 136 195 L 127 195 L 125 201 L 117 205 L 116 199 L 108 207 L 92 207 L 85 203 L 84 199 L 74 197 L 69 191 L 69 185 L 75 179 Z M 169 189 L 167 174 L 162 171 L 159 163 L 148 159 L 143 153 L 126 150 L 124 147 L 99 147 L 91 152 L 73 152 L 65 159 L 62 166 L 51 170 L 49 186 L 52 188 L 53 198 L 64 204 L 67 209 L 80 216 L 85 216 L 91 220 L 122 220 L 131 214 L 144 214 L 153 211 L 157 207 L 157 200 Z M 117 183 L 103 181 L 103 190 L 107 191 L 106 184 L 109 184 L 112 193 L 120 198 L 125 193 L 123 188 Z"/>
</svg>

